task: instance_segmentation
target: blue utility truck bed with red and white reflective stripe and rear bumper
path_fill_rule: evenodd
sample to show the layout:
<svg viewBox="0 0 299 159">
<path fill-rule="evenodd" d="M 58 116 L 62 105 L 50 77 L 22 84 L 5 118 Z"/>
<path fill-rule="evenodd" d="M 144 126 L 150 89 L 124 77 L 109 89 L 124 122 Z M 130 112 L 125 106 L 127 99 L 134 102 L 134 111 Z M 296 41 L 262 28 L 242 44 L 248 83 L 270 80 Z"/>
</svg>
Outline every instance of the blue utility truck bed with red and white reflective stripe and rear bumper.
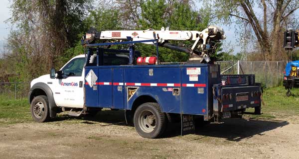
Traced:
<svg viewBox="0 0 299 159">
<path fill-rule="evenodd" d="M 134 110 L 139 99 L 145 99 L 157 102 L 165 113 L 203 115 L 210 120 L 213 109 L 244 112 L 261 103 L 260 86 L 249 83 L 251 76 L 235 76 L 239 84 L 219 84 L 218 65 L 87 66 L 85 75 L 91 70 L 97 80 L 93 86 L 85 83 L 86 107 Z"/>
</svg>

